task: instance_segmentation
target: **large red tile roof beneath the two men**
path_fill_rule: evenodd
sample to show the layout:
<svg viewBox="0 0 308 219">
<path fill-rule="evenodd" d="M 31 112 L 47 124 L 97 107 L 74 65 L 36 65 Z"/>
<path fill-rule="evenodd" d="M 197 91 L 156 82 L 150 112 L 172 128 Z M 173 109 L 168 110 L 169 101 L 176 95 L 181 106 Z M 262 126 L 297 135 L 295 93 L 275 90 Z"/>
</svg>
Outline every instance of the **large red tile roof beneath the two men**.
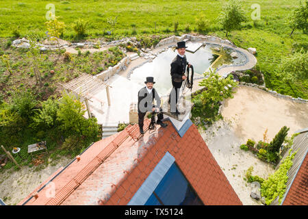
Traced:
<svg viewBox="0 0 308 219">
<path fill-rule="evenodd" d="M 95 142 L 53 179 L 55 197 L 43 189 L 26 205 L 126 205 L 167 151 L 205 205 L 242 205 L 196 126 L 181 138 L 166 123 L 141 138 L 136 124 Z"/>
</svg>

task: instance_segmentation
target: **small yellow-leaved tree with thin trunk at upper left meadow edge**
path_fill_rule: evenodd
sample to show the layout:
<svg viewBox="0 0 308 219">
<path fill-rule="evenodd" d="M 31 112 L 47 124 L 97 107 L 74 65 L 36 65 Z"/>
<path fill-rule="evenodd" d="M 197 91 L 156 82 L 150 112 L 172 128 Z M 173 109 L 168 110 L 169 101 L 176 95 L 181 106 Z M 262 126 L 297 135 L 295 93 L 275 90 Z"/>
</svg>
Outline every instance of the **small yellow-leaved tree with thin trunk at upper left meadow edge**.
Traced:
<svg viewBox="0 0 308 219">
<path fill-rule="evenodd" d="M 57 47 L 59 48 L 59 54 L 61 53 L 59 38 L 64 30 L 64 22 L 58 21 L 58 16 L 51 14 L 51 20 L 45 22 L 46 28 L 51 40 L 57 40 Z"/>
</svg>

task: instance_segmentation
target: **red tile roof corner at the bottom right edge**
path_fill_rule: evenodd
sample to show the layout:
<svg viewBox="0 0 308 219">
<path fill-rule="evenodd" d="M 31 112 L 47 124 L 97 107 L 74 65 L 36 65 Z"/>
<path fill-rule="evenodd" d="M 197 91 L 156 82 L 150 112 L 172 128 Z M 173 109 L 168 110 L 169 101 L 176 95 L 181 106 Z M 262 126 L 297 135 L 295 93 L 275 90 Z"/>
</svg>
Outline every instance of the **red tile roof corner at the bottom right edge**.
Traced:
<svg viewBox="0 0 308 219">
<path fill-rule="evenodd" d="M 308 205 L 308 156 L 300 166 L 283 205 Z"/>
</svg>

